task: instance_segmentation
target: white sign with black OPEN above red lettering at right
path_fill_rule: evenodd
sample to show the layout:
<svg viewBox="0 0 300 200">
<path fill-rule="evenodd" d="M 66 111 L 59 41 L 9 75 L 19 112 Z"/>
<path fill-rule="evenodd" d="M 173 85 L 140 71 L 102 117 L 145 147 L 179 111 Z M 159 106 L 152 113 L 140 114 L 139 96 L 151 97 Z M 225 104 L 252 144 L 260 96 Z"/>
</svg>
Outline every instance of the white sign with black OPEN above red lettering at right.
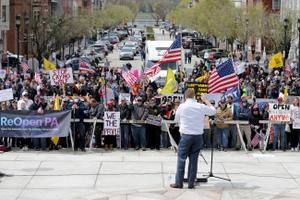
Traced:
<svg viewBox="0 0 300 200">
<path fill-rule="evenodd" d="M 286 104 L 269 104 L 269 120 L 277 122 L 289 122 L 291 118 L 290 105 Z"/>
</svg>

